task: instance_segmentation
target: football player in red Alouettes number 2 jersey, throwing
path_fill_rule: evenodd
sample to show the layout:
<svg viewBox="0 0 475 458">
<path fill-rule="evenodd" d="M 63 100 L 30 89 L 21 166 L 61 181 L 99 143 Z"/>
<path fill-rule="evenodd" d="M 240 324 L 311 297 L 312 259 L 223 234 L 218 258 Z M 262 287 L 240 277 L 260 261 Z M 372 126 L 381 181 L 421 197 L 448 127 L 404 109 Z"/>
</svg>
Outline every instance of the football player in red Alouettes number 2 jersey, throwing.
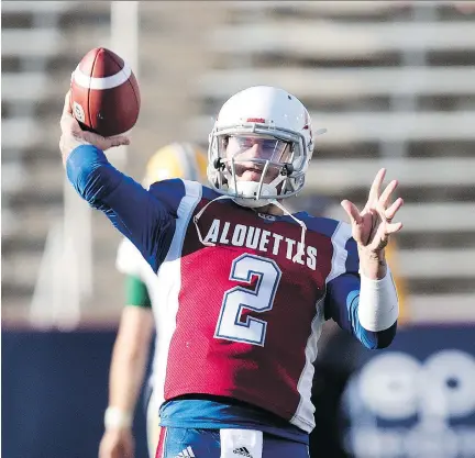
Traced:
<svg viewBox="0 0 475 458">
<path fill-rule="evenodd" d="M 334 320 L 368 348 L 393 340 L 398 299 L 385 260 L 402 199 L 380 169 L 350 223 L 290 214 L 314 135 L 287 91 L 252 87 L 221 108 L 209 136 L 210 188 L 180 179 L 146 191 L 103 149 L 124 136 L 82 133 L 66 100 L 67 176 L 142 253 L 162 294 L 156 456 L 308 457 L 312 362 Z"/>
</svg>

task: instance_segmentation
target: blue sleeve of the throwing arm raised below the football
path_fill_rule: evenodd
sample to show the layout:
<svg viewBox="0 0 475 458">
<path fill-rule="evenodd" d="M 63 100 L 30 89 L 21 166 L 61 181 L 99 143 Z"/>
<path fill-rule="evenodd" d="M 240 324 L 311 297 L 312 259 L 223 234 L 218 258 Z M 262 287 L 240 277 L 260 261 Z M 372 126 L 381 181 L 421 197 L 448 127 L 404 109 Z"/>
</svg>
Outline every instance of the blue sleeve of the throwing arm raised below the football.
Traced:
<svg viewBox="0 0 475 458">
<path fill-rule="evenodd" d="M 102 211 L 157 271 L 175 233 L 176 214 L 169 205 L 112 167 L 91 145 L 73 150 L 66 174 L 79 196 Z"/>
</svg>

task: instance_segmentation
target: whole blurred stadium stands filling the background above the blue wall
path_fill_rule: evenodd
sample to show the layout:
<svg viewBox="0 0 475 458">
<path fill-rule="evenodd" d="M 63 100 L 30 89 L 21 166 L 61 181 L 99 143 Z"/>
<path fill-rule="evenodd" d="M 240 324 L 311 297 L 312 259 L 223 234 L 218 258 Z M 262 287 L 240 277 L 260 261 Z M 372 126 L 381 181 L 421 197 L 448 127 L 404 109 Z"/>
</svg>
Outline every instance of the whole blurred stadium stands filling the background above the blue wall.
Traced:
<svg viewBox="0 0 475 458">
<path fill-rule="evenodd" d="M 29 316 L 47 234 L 62 224 L 63 96 L 81 56 L 110 45 L 111 8 L 90 1 L 2 1 L 1 8 L 8 322 Z M 306 194 L 362 203 L 375 171 L 387 167 L 406 200 L 399 268 L 410 317 L 473 321 L 474 20 L 473 11 L 434 1 L 140 2 L 143 110 L 124 168 L 140 179 L 163 144 L 206 145 L 229 96 L 281 86 L 308 105 L 314 127 L 329 130 L 317 139 Z M 330 212 L 343 217 L 338 204 Z M 119 235 L 100 214 L 92 227 L 93 295 L 82 315 L 115 320 Z"/>
</svg>

